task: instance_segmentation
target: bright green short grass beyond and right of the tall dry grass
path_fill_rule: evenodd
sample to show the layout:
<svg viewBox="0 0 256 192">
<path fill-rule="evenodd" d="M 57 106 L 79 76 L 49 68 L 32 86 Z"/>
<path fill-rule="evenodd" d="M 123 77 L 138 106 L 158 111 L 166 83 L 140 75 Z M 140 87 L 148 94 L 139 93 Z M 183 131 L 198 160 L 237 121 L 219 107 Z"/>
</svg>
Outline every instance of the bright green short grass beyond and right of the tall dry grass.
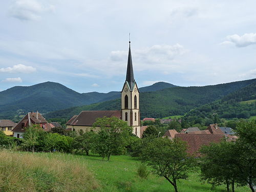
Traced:
<svg viewBox="0 0 256 192">
<path fill-rule="evenodd" d="M 173 186 L 163 177 L 150 174 L 147 179 L 137 176 L 137 167 L 140 161 L 130 156 L 111 156 L 110 161 L 102 161 L 99 156 L 83 156 L 60 153 L 37 153 L 36 156 L 47 157 L 49 159 L 59 159 L 73 162 L 74 164 L 86 164 L 87 168 L 98 180 L 99 188 L 97 192 L 173 192 Z M 179 192 L 224 192 L 225 186 L 218 186 L 215 190 L 210 190 L 211 185 L 202 184 L 199 181 L 198 173 L 191 173 L 188 180 L 178 182 Z M 248 187 L 236 188 L 236 192 L 250 191 Z"/>
</svg>

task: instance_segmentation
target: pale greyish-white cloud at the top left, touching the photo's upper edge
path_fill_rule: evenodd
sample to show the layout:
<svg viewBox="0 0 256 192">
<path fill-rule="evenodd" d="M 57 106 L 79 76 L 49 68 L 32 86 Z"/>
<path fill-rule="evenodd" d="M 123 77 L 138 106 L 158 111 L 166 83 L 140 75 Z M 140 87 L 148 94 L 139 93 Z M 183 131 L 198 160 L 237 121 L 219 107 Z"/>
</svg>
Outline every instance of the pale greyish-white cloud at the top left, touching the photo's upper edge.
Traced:
<svg viewBox="0 0 256 192">
<path fill-rule="evenodd" d="M 36 0 L 16 0 L 10 7 L 9 14 L 20 20 L 38 20 L 41 13 L 53 10 L 53 5 L 44 6 Z"/>
</svg>

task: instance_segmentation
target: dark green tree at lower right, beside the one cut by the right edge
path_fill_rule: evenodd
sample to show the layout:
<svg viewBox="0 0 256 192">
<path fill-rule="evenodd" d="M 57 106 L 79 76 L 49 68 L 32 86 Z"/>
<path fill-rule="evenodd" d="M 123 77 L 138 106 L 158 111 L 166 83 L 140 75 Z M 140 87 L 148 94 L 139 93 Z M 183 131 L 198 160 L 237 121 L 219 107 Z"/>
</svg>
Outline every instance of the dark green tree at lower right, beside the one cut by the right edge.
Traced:
<svg viewBox="0 0 256 192">
<path fill-rule="evenodd" d="M 237 157 L 234 151 L 235 145 L 234 142 L 222 141 L 201 147 L 200 152 L 203 157 L 200 160 L 200 177 L 202 181 L 212 184 L 213 187 L 226 184 L 228 192 L 230 185 L 234 192 L 235 182 L 244 185 L 238 177 L 239 169 L 234 164 L 234 159 Z"/>
</svg>

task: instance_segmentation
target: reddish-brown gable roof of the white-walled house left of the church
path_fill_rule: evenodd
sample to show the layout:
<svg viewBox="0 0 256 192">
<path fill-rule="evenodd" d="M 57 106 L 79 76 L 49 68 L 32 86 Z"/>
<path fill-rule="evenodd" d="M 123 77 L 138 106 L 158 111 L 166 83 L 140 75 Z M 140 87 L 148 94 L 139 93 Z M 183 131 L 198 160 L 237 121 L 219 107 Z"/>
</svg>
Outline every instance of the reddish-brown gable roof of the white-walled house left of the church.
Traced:
<svg viewBox="0 0 256 192">
<path fill-rule="evenodd" d="M 25 115 L 25 117 L 23 117 L 22 120 L 20 120 L 18 122 L 18 124 L 14 127 L 14 129 L 12 130 L 12 132 L 25 132 L 25 129 L 23 129 L 22 124 L 24 123 L 25 127 L 29 127 L 29 122 L 31 122 L 31 124 L 40 124 L 40 123 L 45 123 L 46 124 L 46 128 L 50 130 L 49 125 L 47 125 L 47 120 L 38 112 L 30 112 L 27 115 Z M 46 130 L 47 131 L 47 130 Z"/>
</svg>

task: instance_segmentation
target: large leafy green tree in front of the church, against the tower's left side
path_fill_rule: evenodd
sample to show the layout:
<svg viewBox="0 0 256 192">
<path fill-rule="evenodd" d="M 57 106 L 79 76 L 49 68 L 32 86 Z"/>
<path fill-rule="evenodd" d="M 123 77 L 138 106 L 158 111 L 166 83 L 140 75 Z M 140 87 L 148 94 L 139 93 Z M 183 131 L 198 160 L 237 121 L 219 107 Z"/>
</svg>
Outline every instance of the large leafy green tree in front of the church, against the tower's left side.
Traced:
<svg viewBox="0 0 256 192">
<path fill-rule="evenodd" d="M 132 134 L 132 127 L 117 117 L 98 118 L 94 127 L 99 127 L 95 138 L 95 150 L 102 157 L 110 156 L 113 153 L 120 153 L 125 150 L 125 145 Z"/>
</svg>

